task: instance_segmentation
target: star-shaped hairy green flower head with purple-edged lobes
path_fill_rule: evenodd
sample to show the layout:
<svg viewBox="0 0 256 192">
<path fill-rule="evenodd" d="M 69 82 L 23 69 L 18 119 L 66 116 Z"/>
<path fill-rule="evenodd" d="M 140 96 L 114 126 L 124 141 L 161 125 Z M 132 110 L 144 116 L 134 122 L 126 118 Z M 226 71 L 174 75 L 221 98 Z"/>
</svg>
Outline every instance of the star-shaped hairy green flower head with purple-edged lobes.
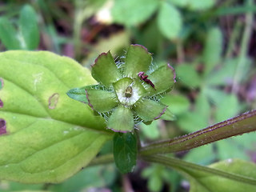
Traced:
<svg viewBox="0 0 256 192">
<path fill-rule="evenodd" d="M 91 74 L 98 85 L 74 88 L 67 94 L 101 114 L 108 129 L 126 133 L 138 122 L 174 120 L 167 106 L 159 102 L 160 94 L 174 86 L 174 69 L 169 64 L 154 65 L 144 46 L 131 45 L 125 59 L 118 62 L 110 52 L 100 54 Z"/>
</svg>

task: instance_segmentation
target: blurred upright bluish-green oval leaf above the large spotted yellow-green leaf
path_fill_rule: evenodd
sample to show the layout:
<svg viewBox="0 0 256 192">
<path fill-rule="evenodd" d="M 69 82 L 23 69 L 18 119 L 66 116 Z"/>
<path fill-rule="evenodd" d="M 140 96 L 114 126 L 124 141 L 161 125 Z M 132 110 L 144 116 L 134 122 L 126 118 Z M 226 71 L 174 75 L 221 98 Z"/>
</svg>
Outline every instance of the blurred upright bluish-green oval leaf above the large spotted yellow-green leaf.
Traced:
<svg viewBox="0 0 256 192">
<path fill-rule="evenodd" d="M 19 15 L 18 26 L 22 38 L 22 46 L 26 50 L 35 50 L 39 44 L 38 15 L 33 7 L 22 7 Z"/>
</svg>

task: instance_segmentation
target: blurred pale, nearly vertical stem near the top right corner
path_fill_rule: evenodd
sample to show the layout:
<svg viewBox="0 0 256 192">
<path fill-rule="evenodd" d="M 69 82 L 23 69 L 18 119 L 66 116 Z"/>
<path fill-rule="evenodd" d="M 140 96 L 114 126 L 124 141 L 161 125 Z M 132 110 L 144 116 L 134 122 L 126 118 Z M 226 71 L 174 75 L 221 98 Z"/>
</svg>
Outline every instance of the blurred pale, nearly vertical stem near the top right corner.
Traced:
<svg viewBox="0 0 256 192">
<path fill-rule="evenodd" d="M 254 6 L 253 0 L 247 0 L 246 5 L 248 7 L 253 7 Z M 242 78 L 243 69 L 246 68 L 246 56 L 248 52 L 248 47 L 249 47 L 248 45 L 250 42 L 253 24 L 254 24 L 254 14 L 252 11 L 248 11 L 248 13 L 246 14 L 246 26 L 242 36 L 241 51 L 238 58 L 238 66 L 234 74 L 234 83 L 232 86 L 233 93 L 238 92 L 238 83 Z"/>
</svg>

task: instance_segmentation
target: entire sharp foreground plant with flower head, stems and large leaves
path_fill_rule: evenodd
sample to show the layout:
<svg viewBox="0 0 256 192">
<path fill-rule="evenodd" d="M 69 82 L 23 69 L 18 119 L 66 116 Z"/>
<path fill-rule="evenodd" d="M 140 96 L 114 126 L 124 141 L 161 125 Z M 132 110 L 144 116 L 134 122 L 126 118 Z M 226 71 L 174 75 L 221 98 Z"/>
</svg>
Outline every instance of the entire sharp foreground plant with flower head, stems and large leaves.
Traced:
<svg viewBox="0 0 256 192">
<path fill-rule="evenodd" d="M 158 96 L 172 88 L 175 74 L 170 66 L 166 68 L 151 62 L 151 55 L 142 46 L 130 46 L 125 58 L 125 62 L 118 62 L 117 67 L 110 53 L 101 54 L 92 70 L 93 77 L 100 83 L 91 86 L 96 82 L 90 71 L 70 58 L 46 51 L 1 53 L 0 145 L 4 147 L 0 150 L 0 178 L 24 183 L 62 182 L 82 167 L 113 161 L 126 173 L 134 168 L 138 158 L 177 170 L 190 180 L 190 191 L 254 191 L 256 172 L 251 162 L 229 159 L 211 166 L 199 166 L 162 154 L 190 150 L 254 131 L 256 111 L 180 138 L 141 146 L 139 130 L 133 129 L 134 124 L 150 123 L 156 117 L 174 118 L 168 110 L 163 110 L 166 106 L 162 108 L 164 105 Z M 106 74 L 110 70 L 116 75 Z M 144 76 L 139 75 L 140 72 L 144 72 Z M 125 86 L 118 86 L 119 82 L 124 82 Z M 144 111 L 136 108 L 134 103 L 122 103 L 117 92 L 120 88 L 129 100 L 134 93 L 130 88 L 127 90 L 129 86 L 143 93 L 141 98 L 145 103 L 154 104 L 139 104 L 142 109 L 146 107 Z M 66 92 L 80 102 L 70 99 Z M 105 119 L 96 115 L 92 106 Z M 156 114 L 148 113 L 158 106 L 161 107 Z M 118 116 L 119 112 L 115 114 L 120 107 L 129 110 L 125 117 Z M 135 115 L 138 118 L 134 118 Z M 119 121 L 127 123 L 121 127 Z M 107 130 L 106 126 L 121 133 Z M 114 156 L 104 154 L 95 158 L 106 141 L 113 138 Z"/>
</svg>

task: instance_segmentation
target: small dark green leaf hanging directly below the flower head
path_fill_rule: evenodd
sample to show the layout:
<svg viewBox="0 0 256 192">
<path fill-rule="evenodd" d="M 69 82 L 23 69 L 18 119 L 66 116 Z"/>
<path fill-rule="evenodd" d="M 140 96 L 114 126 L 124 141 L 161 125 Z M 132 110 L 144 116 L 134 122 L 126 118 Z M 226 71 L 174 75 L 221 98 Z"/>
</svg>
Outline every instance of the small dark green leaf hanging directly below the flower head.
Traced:
<svg viewBox="0 0 256 192">
<path fill-rule="evenodd" d="M 134 170 L 137 160 L 137 139 L 134 133 L 116 133 L 113 138 L 114 162 L 122 174 Z"/>
</svg>

